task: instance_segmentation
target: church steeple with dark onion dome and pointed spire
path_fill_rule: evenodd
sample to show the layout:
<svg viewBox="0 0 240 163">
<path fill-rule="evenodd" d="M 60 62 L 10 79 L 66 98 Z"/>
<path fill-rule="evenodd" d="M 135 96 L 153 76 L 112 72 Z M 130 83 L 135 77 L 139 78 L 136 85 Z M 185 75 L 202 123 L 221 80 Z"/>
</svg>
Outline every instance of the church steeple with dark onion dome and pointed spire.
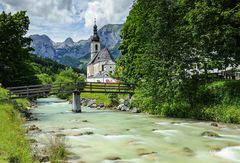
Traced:
<svg viewBox="0 0 240 163">
<path fill-rule="evenodd" d="M 100 38 L 99 38 L 98 32 L 97 32 L 96 19 L 94 20 L 93 36 L 92 36 L 92 40 L 91 41 L 92 41 L 91 42 L 91 59 L 93 59 L 93 57 L 95 55 L 97 55 L 97 53 L 100 52 L 100 50 L 101 50 Z"/>
</svg>

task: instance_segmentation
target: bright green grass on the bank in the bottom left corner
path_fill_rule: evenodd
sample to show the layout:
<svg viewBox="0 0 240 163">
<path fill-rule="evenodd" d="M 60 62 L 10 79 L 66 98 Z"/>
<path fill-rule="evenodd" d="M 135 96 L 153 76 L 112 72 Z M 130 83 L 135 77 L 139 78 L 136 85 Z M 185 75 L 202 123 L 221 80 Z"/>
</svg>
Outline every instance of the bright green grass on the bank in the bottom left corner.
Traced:
<svg viewBox="0 0 240 163">
<path fill-rule="evenodd" d="M 23 122 L 13 105 L 0 104 L 0 162 L 32 162 L 30 144 L 25 138 Z"/>
</svg>

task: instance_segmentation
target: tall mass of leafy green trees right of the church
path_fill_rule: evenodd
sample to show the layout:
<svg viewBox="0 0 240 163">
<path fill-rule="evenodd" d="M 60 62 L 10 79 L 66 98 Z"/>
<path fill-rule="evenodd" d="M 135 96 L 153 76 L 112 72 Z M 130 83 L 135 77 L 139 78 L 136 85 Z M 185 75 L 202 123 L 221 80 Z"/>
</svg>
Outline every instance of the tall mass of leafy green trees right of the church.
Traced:
<svg viewBox="0 0 240 163">
<path fill-rule="evenodd" d="M 202 75 L 239 62 L 239 5 L 227 0 L 136 0 L 122 29 L 116 75 L 137 83 L 136 104 L 152 113 L 190 116 Z M 196 110 L 197 112 L 197 110 Z"/>
</svg>

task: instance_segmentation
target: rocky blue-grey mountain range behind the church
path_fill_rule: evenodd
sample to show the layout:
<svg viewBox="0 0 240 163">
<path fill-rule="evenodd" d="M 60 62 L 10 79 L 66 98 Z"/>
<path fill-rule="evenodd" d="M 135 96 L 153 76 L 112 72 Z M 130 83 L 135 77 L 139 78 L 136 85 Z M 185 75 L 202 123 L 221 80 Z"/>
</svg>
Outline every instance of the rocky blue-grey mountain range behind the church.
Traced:
<svg viewBox="0 0 240 163">
<path fill-rule="evenodd" d="M 122 24 L 108 24 L 99 31 L 102 49 L 107 47 L 114 58 L 120 57 L 120 51 L 117 49 L 121 43 L 120 31 Z M 72 38 L 67 38 L 64 42 L 53 42 L 46 35 L 31 35 L 33 41 L 31 47 L 35 50 L 33 53 L 55 60 L 67 66 L 79 67 L 85 65 L 90 59 L 91 38 L 74 42 Z"/>
</svg>

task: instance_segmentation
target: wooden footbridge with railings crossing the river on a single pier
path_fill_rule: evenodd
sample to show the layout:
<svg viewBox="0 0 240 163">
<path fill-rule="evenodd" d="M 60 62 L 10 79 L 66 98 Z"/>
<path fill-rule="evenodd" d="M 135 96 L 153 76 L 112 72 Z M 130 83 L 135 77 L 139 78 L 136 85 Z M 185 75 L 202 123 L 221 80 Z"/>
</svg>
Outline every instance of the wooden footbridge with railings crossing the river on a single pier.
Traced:
<svg viewBox="0 0 240 163">
<path fill-rule="evenodd" d="M 128 83 L 56 83 L 46 85 L 30 85 L 20 87 L 8 87 L 8 97 L 16 98 L 40 98 L 58 94 L 73 95 L 73 111 L 81 112 L 80 94 L 88 93 L 114 93 L 114 94 L 134 94 L 134 85 Z"/>
</svg>

